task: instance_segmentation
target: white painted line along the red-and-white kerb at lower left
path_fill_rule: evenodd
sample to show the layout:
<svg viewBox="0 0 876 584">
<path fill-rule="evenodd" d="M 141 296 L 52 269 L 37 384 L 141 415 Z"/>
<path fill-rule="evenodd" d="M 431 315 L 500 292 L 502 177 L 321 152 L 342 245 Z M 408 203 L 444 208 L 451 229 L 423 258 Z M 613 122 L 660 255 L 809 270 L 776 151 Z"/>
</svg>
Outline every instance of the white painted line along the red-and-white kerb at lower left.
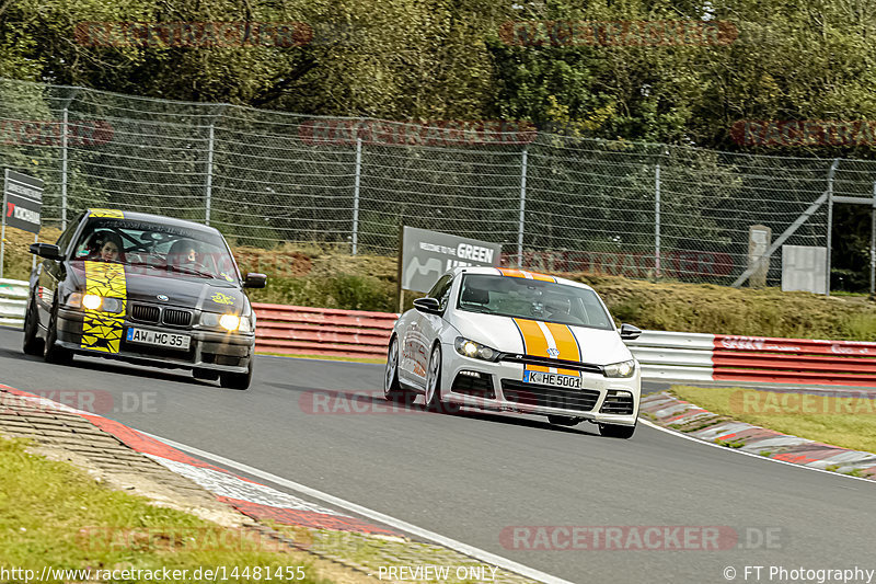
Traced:
<svg viewBox="0 0 876 584">
<path fill-rule="evenodd" d="M 346 501 L 344 499 L 330 495 L 328 493 L 323 493 L 322 491 L 318 491 L 316 489 L 311 489 L 310 486 L 306 486 L 303 484 L 290 481 L 288 479 L 284 479 L 283 477 L 277 477 L 276 474 L 272 474 L 270 472 L 250 467 L 247 465 L 238 462 L 235 460 L 231 460 L 230 458 L 215 455 L 206 450 L 200 450 L 199 448 L 195 448 L 193 446 L 186 446 L 185 444 L 180 444 L 178 442 L 162 438 L 161 436 L 155 436 L 154 434 L 149 434 L 148 432 L 142 432 L 140 430 L 138 430 L 137 432 L 143 434 L 145 436 L 149 436 L 150 438 L 154 438 L 159 442 L 162 442 L 169 446 L 173 446 L 174 448 L 177 448 L 180 450 L 185 450 L 193 455 L 197 455 L 204 458 L 209 458 L 211 460 L 215 460 L 216 462 L 221 462 L 227 467 L 232 467 L 237 470 L 246 472 L 247 474 L 251 474 L 253 477 L 258 477 L 260 479 L 264 479 L 275 484 L 283 485 L 300 494 L 318 499 L 324 503 L 328 503 L 330 505 L 334 505 L 336 507 L 361 515 L 362 517 L 368 517 L 369 519 L 380 522 L 390 527 L 394 527 L 395 529 L 399 529 L 401 531 L 406 531 L 413 536 L 422 537 L 423 539 L 428 539 L 429 541 L 434 541 L 446 548 L 450 548 L 460 553 L 464 553 L 465 556 L 470 556 L 472 558 L 481 560 L 482 562 L 497 565 L 504 570 L 508 570 L 509 572 L 515 572 L 517 574 L 520 574 L 521 576 L 543 582 L 544 584 L 572 584 L 566 580 L 552 576 L 551 574 L 546 574 L 533 568 L 529 568 L 523 564 L 517 563 L 512 560 L 508 560 L 507 558 L 503 558 L 502 556 L 496 556 L 495 553 L 491 553 L 480 548 L 469 546 L 468 543 L 457 541 L 456 539 L 450 539 L 449 537 L 441 536 L 439 534 L 436 534 L 435 531 L 423 529 L 422 527 L 417 527 L 416 525 L 412 525 L 401 519 L 396 519 L 395 517 L 384 515 L 378 511 L 373 511 L 368 507 L 357 505 L 356 503 L 350 503 L 349 501 Z"/>
</svg>

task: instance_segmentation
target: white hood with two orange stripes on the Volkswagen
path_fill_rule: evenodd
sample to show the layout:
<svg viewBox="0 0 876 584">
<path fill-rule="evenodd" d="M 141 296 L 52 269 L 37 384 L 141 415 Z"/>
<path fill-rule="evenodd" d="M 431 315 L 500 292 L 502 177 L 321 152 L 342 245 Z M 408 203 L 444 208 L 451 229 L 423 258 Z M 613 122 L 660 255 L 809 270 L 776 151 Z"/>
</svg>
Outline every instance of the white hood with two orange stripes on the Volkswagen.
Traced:
<svg viewBox="0 0 876 584">
<path fill-rule="evenodd" d="M 466 339 L 488 345 L 503 353 L 523 354 L 526 352 L 539 357 L 551 356 L 546 351 L 549 341 L 538 321 L 511 319 L 495 314 L 480 314 L 477 312 L 457 312 L 454 317 L 453 327 Z M 551 334 L 555 339 L 550 343 L 560 351 L 560 355 L 555 358 L 578 359 L 574 344 L 564 343 L 564 336 L 566 340 L 574 339 L 577 341 L 577 346 L 580 347 L 581 363 L 609 365 L 633 358 L 632 353 L 621 340 L 618 331 L 544 322 L 542 324 L 544 324 L 549 333 L 551 331 L 555 333 Z M 526 348 L 523 345 L 525 336 L 529 337 Z"/>
</svg>

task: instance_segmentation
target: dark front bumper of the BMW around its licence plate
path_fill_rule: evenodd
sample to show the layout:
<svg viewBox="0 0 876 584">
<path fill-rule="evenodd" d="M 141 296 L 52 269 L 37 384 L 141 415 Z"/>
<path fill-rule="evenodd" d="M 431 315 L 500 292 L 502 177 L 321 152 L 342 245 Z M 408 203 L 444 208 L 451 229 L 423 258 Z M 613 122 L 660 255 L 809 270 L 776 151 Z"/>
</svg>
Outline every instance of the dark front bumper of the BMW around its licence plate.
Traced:
<svg viewBox="0 0 876 584">
<path fill-rule="evenodd" d="M 227 373 L 246 373 L 255 347 L 254 334 L 223 333 L 198 327 L 169 328 L 143 324 L 125 320 L 118 353 L 95 351 L 82 346 L 81 310 L 61 308 L 58 310 L 58 344 L 81 355 L 120 359 L 153 367 L 211 369 Z M 129 343 L 126 341 L 128 327 L 159 332 L 187 334 L 192 337 L 187 351 Z"/>
</svg>

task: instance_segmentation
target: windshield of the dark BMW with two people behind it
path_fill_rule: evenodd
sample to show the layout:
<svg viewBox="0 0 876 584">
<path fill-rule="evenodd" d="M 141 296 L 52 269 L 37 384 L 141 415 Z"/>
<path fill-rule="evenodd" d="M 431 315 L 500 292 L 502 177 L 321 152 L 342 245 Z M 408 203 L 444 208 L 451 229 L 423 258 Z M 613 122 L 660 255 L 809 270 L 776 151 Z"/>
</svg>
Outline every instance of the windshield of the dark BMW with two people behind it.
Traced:
<svg viewBox="0 0 876 584">
<path fill-rule="evenodd" d="M 73 259 L 240 282 L 221 236 L 151 221 L 93 218 L 77 242 Z"/>
</svg>

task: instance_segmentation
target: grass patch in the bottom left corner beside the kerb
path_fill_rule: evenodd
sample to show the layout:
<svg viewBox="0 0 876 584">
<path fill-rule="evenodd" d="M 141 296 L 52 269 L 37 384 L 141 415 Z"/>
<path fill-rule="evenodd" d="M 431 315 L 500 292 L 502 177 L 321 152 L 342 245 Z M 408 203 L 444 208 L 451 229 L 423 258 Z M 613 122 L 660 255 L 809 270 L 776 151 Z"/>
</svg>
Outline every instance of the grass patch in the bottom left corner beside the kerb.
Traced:
<svg viewBox="0 0 876 584">
<path fill-rule="evenodd" d="M 188 570 L 187 577 L 164 581 L 201 582 L 205 576 L 196 577 L 196 569 L 224 566 L 229 582 L 252 582 L 266 581 L 253 577 L 253 566 L 263 574 L 302 566 L 298 582 L 332 582 L 316 574 L 307 553 L 281 551 L 239 529 L 111 491 L 76 467 L 28 454 L 27 444 L 0 438 L 0 566 L 7 570 L 91 569 L 92 580 L 94 570 Z M 238 577 L 231 577 L 234 566 Z M 143 576 L 124 580 L 154 581 Z M 43 581 L 84 580 L 54 574 Z"/>
</svg>

